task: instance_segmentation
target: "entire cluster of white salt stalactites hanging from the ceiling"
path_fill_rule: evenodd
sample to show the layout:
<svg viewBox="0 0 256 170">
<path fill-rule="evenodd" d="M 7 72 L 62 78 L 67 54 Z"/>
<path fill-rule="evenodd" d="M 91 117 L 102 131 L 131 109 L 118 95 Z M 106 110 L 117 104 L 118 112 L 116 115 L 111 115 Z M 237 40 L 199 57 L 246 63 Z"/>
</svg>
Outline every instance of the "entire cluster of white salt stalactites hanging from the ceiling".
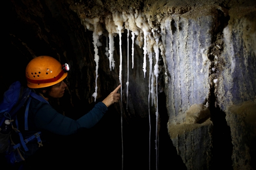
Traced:
<svg viewBox="0 0 256 170">
<path fill-rule="evenodd" d="M 152 29 L 146 19 L 146 16 L 141 11 L 135 11 L 131 8 L 129 13 L 119 13 L 118 11 L 112 12 L 112 15 L 108 15 L 103 19 L 106 30 L 109 32 L 109 46 L 107 45 L 106 49 L 106 56 L 109 58 L 109 66 L 110 71 L 114 69 L 115 67 L 115 61 L 113 59 L 113 51 L 115 49 L 114 47 L 114 36 L 117 34 L 119 35 L 119 59 L 120 59 L 120 65 L 119 65 L 119 82 L 122 85 L 122 42 L 121 42 L 121 36 L 124 31 L 123 24 L 125 25 L 125 29 L 127 29 L 127 105 L 126 108 L 128 109 L 128 85 L 129 85 L 129 31 L 131 31 L 131 39 L 132 39 L 132 68 L 134 67 L 134 42 L 136 42 L 140 48 L 143 45 L 144 50 L 144 58 L 143 58 L 143 71 L 144 71 L 144 78 L 146 73 L 146 55 L 148 54 L 149 59 L 149 78 L 148 78 L 148 114 L 149 114 L 149 169 L 150 169 L 150 139 L 151 139 L 151 122 L 150 122 L 150 96 L 151 96 L 151 105 L 153 106 L 153 102 L 156 107 L 156 131 L 155 131 L 155 150 L 156 150 L 156 169 L 158 168 L 158 144 L 159 144 L 159 136 L 158 136 L 158 98 L 157 98 L 157 77 L 158 77 L 158 59 L 159 59 L 159 36 L 156 36 L 154 31 L 152 30 L 152 33 L 150 30 Z M 100 21 L 100 18 L 92 18 L 92 19 L 82 19 L 82 24 L 86 26 L 87 29 L 93 31 L 93 46 L 94 46 L 94 52 L 95 57 L 94 60 L 96 62 L 96 79 L 95 79 L 95 92 L 92 94 L 94 97 L 94 101 L 96 101 L 97 98 L 97 78 L 98 78 L 98 67 L 99 67 L 99 56 L 98 56 L 98 48 L 97 46 L 101 45 L 101 42 L 99 41 L 99 36 L 102 34 L 102 28 L 101 28 L 102 20 Z M 157 31 L 157 30 L 156 30 Z M 152 36 L 152 34 L 154 34 Z M 137 39 L 135 41 L 135 35 L 137 35 Z M 108 37 L 107 37 L 107 44 L 108 44 Z M 153 59 L 152 54 L 155 51 L 155 66 L 154 71 L 152 69 L 153 65 Z M 156 88 L 155 85 L 156 84 Z M 123 169 L 123 118 L 122 118 L 122 86 L 120 88 L 120 109 L 121 109 L 121 138 L 122 138 L 122 169 Z M 156 99 L 155 99 L 156 98 Z"/>
</svg>

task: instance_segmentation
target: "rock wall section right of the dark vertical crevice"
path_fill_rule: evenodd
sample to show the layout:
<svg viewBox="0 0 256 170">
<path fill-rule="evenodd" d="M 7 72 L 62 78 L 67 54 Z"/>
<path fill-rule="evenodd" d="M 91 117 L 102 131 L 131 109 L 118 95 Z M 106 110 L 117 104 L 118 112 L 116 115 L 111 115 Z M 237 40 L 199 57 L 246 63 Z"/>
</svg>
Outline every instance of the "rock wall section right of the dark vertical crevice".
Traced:
<svg viewBox="0 0 256 170">
<path fill-rule="evenodd" d="M 239 11 L 247 10 L 244 15 Z M 224 28 L 225 61 L 215 84 L 217 103 L 226 113 L 231 130 L 234 169 L 254 169 L 256 149 L 256 13 L 246 7 L 229 10 Z"/>
</svg>

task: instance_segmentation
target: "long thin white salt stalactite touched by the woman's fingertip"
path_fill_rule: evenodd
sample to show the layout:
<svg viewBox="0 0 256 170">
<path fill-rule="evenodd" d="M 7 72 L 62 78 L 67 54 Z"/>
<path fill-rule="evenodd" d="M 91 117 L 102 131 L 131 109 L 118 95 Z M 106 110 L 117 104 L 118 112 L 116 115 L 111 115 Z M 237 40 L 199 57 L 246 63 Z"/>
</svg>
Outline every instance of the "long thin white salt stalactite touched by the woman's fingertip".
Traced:
<svg viewBox="0 0 256 170">
<path fill-rule="evenodd" d="M 123 170 L 123 164 L 124 164 L 124 154 L 123 154 L 123 151 L 124 151 L 124 146 L 123 146 L 123 101 L 122 101 L 122 97 L 123 97 L 123 94 L 122 94 L 122 40 L 121 40 L 121 37 L 122 37 L 122 34 L 121 34 L 121 31 L 123 29 L 123 18 L 122 18 L 122 15 L 119 14 L 118 11 L 114 12 L 113 13 L 113 20 L 115 22 L 115 25 L 118 26 L 118 30 L 119 30 L 119 55 L 120 55 L 120 65 L 119 65 L 119 81 L 120 81 L 120 84 L 121 84 L 121 105 L 120 105 L 120 108 L 121 108 L 121 137 L 122 137 L 122 170 Z"/>
</svg>

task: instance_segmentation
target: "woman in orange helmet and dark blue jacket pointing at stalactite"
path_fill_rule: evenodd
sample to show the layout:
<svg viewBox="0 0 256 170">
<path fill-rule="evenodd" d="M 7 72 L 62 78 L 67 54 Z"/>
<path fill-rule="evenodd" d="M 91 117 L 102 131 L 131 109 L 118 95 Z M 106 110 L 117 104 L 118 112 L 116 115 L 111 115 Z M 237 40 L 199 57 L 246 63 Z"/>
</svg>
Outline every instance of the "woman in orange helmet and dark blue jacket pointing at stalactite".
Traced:
<svg viewBox="0 0 256 170">
<path fill-rule="evenodd" d="M 49 56 L 32 59 L 27 65 L 27 86 L 35 93 L 31 93 L 27 106 L 19 110 L 18 127 L 24 139 L 39 131 L 41 134 L 40 141 L 34 139 L 34 142 L 26 144 L 29 151 L 25 152 L 24 148 L 20 147 L 24 152 L 25 160 L 31 159 L 29 156 L 34 155 L 40 146 L 47 144 L 51 140 L 51 134 L 66 136 L 76 133 L 81 128 L 93 127 L 108 107 L 119 101 L 120 94 L 117 92 L 121 85 L 80 119 L 73 120 L 58 113 L 48 102 L 51 98 L 60 98 L 64 95 L 67 85 L 63 80 L 67 76 L 68 69 L 68 65 L 62 66 L 56 59 Z M 14 143 L 17 144 L 17 135 L 13 138 Z"/>
</svg>

